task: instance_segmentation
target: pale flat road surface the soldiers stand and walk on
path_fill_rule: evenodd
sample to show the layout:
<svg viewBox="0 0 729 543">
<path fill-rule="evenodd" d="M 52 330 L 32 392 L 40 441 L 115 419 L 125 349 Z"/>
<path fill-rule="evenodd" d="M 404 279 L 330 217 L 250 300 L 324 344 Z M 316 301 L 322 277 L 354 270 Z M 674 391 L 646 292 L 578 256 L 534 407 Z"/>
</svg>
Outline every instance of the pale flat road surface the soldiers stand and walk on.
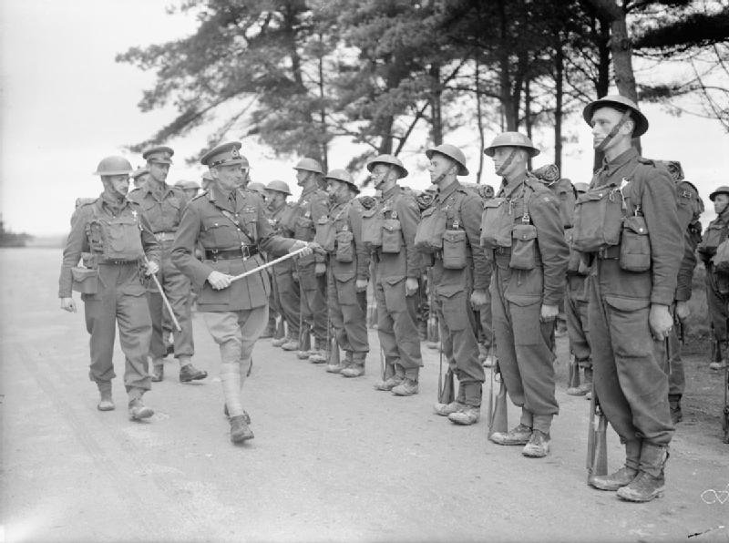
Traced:
<svg viewBox="0 0 729 543">
<path fill-rule="evenodd" d="M 484 420 L 464 427 L 432 413 L 435 351 L 424 348 L 420 394 L 376 392 L 375 331 L 367 374 L 354 380 L 258 343 L 245 387 L 256 437 L 245 446 L 229 441 L 218 351 L 200 315 L 195 363 L 208 379 L 180 384 L 169 359 L 145 396 L 149 423 L 128 420 L 120 378 L 117 410 L 101 413 L 83 304 L 59 309 L 59 263 L 58 250 L 0 250 L 7 541 L 729 541 L 718 416 L 686 414 L 661 499 L 628 504 L 586 486 L 589 404 L 564 393 L 563 341 L 560 416 L 542 460 L 490 444 Z M 121 374 L 120 351 L 115 364 Z M 609 437 L 613 469 L 622 451 Z"/>
</svg>

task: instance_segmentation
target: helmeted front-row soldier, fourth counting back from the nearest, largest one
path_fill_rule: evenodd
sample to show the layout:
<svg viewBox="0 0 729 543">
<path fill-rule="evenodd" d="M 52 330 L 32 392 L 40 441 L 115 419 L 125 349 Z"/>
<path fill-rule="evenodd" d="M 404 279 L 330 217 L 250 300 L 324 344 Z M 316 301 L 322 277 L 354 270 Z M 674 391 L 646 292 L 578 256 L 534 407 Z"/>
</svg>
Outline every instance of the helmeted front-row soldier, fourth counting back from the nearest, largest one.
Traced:
<svg viewBox="0 0 729 543">
<path fill-rule="evenodd" d="M 377 336 L 385 353 L 385 378 L 375 389 L 409 396 L 418 392 L 423 366 L 416 323 L 418 278 L 423 269 L 415 249 L 420 209 L 413 194 L 397 184 L 407 177 L 400 159 L 379 155 L 367 162 L 367 169 L 380 192 L 369 213 L 381 219 L 375 228 L 382 238 L 379 246 L 372 247 Z M 366 286 L 366 280 L 357 280 L 358 289 Z"/>
</svg>

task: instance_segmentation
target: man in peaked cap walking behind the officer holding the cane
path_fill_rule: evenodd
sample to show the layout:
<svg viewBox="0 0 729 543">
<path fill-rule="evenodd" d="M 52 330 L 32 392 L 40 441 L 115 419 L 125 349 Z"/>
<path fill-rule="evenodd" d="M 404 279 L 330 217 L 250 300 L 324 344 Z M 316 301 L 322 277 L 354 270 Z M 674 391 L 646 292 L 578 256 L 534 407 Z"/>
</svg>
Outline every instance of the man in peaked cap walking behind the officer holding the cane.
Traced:
<svg viewBox="0 0 729 543">
<path fill-rule="evenodd" d="M 165 146 L 144 151 L 142 157 L 147 160 L 149 179 L 143 187 L 129 193 L 129 200 L 136 201 L 144 210 L 162 250 L 158 279 L 180 323 L 181 330 L 172 331 L 173 351 L 180 364 L 180 382 L 188 383 L 204 379 L 208 373 L 192 364 L 191 358 L 195 347 L 190 315 L 190 280 L 175 267 L 170 256 L 172 241 L 180 224 L 182 211 L 187 205 L 185 192 L 166 182 L 172 155 L 174 150 Z M 149 282 L 148 302 L 149 314 L 152 317 L 149 357 L 152 359 L 152 381 L 158 382 L 164 378 L 164 357 L 167 354 L 167 347 L 164 342 L 165 304 L 154 282 Z"/>
</svg>

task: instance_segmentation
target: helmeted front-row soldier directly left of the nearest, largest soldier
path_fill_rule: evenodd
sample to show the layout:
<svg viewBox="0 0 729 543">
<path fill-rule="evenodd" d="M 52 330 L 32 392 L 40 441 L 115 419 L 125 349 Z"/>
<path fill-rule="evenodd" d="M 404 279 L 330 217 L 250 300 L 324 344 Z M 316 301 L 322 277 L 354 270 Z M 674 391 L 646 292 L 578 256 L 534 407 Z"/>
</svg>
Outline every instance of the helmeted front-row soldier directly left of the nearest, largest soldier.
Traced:
<svg viewBox="0 0 729 543">
<path fill-rule="evenodd" d="M 519 425 L 490 439 L 549 454 L 549 429 L 560 411 L 554 397 L 554 320 L 564 297 L 569 248 L 557 197 L 528 171 L 539 149 L 519 132 L 499 134 L 484 154 L 504 184 L 486 204 L 482 233 L 494 276 L 491 310 L 498 364 L 508 395 L 521 407 Z"/>
</svg>

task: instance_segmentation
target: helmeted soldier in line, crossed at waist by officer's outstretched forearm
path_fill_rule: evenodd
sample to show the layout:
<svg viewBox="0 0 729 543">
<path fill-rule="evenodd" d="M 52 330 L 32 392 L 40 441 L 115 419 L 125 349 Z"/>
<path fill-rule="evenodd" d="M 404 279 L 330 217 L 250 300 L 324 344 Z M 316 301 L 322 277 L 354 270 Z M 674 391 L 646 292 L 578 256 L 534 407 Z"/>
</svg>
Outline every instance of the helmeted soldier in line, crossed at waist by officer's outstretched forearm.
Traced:
<svg viewBox="0 0 729 543">
<path fill-rule="evenodd" d="M 289 185 L 282 180 L 274 179 L 266 185 L 268 221 L 273 232 L 284 238 L 293 238 L 293 205 L 286 199 L 291 196 Z M 276 299 L 283 320 L 286 323 L 286 335 L 274 339 L 272 345 L 284 351 L 299 350 L 299 282 L 293 277 L 295 271 L 293 261 L 282 261 L 272 266 L 272 292 Z"/>
</svg>

